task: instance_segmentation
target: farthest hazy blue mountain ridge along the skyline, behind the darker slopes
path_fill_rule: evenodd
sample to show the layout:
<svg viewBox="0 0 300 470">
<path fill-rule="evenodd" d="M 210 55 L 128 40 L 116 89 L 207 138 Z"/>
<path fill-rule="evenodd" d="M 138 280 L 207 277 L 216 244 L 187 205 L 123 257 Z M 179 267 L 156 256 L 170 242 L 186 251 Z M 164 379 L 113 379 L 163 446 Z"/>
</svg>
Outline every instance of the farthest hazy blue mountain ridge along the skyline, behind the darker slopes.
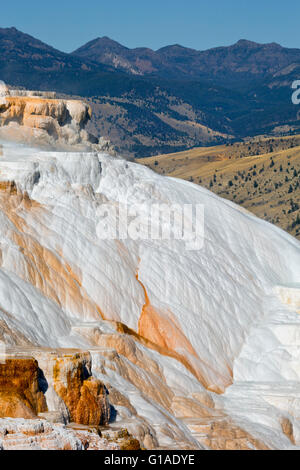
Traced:
<svg viewBox="0 0 300 470">
<path fill-rule="evenodd" d="M 84 60 L 107 64 L 136 75 L 158 75 L 173 79 L 250 80 L 266 78 L 290 67 L 299 66 L 300 50 L 279 44 L 257 44 L 240 40 L 229 47 L 197 51 L 179 44 L 157 51 L 129 49 L 108 37 L 97 38 L 72 54 Z M 292 69 L 291 69 L 292 70 Z"/>
</svg>

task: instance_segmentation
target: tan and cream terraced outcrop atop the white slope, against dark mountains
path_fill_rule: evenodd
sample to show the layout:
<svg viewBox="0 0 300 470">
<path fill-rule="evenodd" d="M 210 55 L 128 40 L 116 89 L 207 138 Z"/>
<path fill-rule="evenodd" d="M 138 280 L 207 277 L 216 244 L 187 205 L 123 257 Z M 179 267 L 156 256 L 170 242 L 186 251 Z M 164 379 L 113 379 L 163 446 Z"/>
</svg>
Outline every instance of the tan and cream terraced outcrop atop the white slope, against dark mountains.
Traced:
<svg viewBox="0 0 300 470">
<path fill-rule="evenodd" d="M 43 148 L 108 151 L 109 141 L 85 130 L 89 105 L 57 99 L 55 93 L 10 90 L 0 83 L 0 138 Z"/>
</svg>

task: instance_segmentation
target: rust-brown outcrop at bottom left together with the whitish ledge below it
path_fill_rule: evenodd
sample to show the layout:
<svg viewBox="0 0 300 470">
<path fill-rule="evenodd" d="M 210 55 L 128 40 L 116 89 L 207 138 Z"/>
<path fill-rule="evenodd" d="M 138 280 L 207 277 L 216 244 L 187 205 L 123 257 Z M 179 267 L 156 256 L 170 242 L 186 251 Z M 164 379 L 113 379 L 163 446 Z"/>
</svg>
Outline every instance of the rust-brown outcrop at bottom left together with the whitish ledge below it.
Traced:
<svg viewBox="0 0 300 470">
<path fill-rule="evenodd" d="M 30 353 L 39 364 L 25 350 L 0 364 L 0 450 L 140 449 L 126 428 L 108 427 L 108 391 L 91 376 L 89 353 Z"/>
</svg>

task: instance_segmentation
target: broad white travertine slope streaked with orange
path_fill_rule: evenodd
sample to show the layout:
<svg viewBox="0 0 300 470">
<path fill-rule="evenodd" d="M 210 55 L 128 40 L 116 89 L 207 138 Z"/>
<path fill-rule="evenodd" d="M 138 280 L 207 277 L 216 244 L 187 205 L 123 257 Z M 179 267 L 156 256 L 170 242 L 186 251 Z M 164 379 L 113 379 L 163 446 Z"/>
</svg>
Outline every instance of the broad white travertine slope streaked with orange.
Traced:
<svg viewBox="0 0 300 470">
<path fill-rule="evenodd" d="M 144 204 L 144 220 L 151 204 L 204 204 L 204 246 L 103 240 L 107 202 Z M 300 445 L 286 302 L 299 282 L 297 240 L 199 186 L 107 154 L 3 149 L 0 340 L 90 351 L 117 422 L 147 448 Z"/>
</svg>

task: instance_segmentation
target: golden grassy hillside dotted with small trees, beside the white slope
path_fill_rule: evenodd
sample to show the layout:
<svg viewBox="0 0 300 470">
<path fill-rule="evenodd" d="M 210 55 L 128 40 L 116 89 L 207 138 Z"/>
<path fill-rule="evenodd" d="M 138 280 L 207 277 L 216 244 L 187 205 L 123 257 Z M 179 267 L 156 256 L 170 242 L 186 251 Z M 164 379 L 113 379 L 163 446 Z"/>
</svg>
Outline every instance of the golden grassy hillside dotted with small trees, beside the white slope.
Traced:
<svg viewBox="0 0 300 470">
<path fill-rule="evenodd" d="M 300 136 L 254 138 L 137 161 L 200 184 L 300 239 Z"/>
</svg>

